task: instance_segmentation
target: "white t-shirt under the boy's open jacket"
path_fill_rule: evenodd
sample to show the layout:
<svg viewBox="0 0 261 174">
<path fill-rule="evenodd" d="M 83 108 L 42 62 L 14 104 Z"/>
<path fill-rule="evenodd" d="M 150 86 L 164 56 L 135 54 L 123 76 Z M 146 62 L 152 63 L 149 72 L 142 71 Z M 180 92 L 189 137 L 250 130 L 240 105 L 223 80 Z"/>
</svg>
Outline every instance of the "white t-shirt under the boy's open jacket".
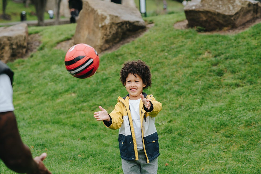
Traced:
<svg viewBox="0 0 261 174">
<path fill-rule="evenodd" d="M 140 127 L 140 116 L 139 116 L 139 102 L 140 99 L 137 100 L 129 100 L 130 110 L 131 110 L 131 117 L 137 142 L 138 151 L 143 149 L 142 145 L 142 132 Z"/>
</svg>

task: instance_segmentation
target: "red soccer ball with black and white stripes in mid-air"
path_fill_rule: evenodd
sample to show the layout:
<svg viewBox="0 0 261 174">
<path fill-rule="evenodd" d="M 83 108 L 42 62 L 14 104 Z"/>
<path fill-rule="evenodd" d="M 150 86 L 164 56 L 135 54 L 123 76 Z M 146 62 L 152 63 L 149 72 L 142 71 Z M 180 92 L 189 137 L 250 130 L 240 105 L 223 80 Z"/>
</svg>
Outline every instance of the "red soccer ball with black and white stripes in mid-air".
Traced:
<svg viewBox="0 0 261 174">
<path fill-rule="evenodd" d="M 93 47 L 87 44 L 76 44 L 67 51 L 64 62 L 70 75 L 85 79 L 96 73 L 100 59 Z"/>
</svg>

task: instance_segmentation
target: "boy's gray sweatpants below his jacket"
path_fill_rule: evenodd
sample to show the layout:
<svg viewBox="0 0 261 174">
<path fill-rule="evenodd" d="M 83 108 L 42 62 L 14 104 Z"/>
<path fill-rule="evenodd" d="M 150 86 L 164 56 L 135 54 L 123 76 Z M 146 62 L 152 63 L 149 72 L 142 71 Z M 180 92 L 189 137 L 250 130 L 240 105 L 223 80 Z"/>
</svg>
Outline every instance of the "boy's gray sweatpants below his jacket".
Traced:
<svg viewBox="0 0 261 174">
<path fill-rule="evenodd" d="M 147 163 L 144 151 L 138 151 L 139 160 L 128 161 L 122 159 L 122 169 L 124 174 L 157 174 L 158 158 Z"/>
</svg>

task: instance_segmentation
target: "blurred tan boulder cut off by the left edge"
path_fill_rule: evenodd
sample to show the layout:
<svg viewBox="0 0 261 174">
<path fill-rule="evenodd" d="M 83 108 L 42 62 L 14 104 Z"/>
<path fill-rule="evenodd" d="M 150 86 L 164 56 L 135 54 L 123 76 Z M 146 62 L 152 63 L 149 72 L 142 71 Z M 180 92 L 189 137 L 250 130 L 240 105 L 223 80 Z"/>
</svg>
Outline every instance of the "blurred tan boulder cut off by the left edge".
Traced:
<svg viewBox="0 0 261 174">
<path fill-rule="evenodd" d="M 20 23 L 0 27 L 0 60 L 4 63 L 23 57 L 28 43 L 28 26 Z"/>
</svg>

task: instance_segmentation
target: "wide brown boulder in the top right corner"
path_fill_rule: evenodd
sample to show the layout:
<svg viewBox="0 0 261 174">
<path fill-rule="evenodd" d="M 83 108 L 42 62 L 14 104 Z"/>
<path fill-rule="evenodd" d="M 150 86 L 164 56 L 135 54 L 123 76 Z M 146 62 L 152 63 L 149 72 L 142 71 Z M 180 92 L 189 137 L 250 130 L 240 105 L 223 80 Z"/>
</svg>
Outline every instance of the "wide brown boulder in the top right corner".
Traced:
<svg viewBox="0 0 261 174">
<path fill-rule="evenodd" d="M 190 27 L 206 30 L 235 28 L 261 17 L 261 3 L 254 0 L 192 0 L 184 7 Z"/>
</svg>

